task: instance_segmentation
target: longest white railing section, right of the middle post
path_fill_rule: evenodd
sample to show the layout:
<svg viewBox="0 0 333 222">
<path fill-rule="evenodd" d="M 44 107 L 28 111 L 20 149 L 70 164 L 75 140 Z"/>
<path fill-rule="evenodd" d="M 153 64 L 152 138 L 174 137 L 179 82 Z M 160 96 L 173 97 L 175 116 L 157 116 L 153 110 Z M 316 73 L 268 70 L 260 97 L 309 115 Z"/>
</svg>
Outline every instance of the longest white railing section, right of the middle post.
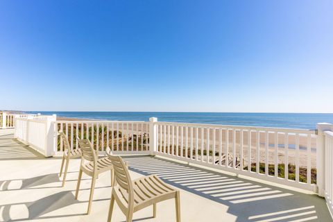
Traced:
<svg viewBox="0 0 333 222">
<path fill-rule="evenodd" d="M 315 131 L 155 124 L 157 155 L 316 191 Z"/>
</svg>

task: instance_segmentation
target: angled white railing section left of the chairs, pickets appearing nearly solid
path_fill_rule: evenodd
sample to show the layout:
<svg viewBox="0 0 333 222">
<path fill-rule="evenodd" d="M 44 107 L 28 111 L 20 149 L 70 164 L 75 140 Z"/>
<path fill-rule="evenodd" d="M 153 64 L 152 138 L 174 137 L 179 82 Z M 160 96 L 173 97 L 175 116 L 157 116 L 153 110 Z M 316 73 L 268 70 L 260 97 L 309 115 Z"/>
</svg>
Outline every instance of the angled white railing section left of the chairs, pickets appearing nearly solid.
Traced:
<svg viewBox="0 0 333 222">
<path fill-rule="evenodd" d="M 15 137 L 42 155 L 54 155 L 56 147 L 56 116 L 15 118 Z"/>
</svg>

